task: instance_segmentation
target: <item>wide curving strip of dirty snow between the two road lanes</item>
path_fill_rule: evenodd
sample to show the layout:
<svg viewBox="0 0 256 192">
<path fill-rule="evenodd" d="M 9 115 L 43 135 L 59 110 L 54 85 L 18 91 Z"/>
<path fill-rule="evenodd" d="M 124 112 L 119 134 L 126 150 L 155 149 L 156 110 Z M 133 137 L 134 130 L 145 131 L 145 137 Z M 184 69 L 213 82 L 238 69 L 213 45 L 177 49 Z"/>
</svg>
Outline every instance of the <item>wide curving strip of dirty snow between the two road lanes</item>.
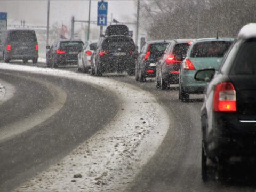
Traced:
<svg viewBox="0 0 256 192">
<path fill-rule="evenodd" d="M 122 103 L 106 127 L 15 191 L 122 191 L 154 155 L 169 128 L 165 109 L 138 87 L 58 69 L 4 63 L 0 69 L 75 79 L 114 92 Z"/>
</svg>

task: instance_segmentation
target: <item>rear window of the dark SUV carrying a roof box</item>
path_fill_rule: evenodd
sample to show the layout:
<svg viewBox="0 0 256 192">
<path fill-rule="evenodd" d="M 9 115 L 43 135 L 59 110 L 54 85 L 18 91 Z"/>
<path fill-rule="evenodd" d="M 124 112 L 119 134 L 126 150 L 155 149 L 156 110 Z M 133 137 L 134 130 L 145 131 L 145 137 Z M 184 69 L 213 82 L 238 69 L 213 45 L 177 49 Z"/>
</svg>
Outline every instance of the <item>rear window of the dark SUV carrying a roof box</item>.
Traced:
<svg viewBox="0 0 256 192">
<path fill-rule="evenodd" d="M 135 51 L 135 44 L 132 39 L 107 38 L 102 44 L 102 49 L 117 52 Z"/>
</svg>

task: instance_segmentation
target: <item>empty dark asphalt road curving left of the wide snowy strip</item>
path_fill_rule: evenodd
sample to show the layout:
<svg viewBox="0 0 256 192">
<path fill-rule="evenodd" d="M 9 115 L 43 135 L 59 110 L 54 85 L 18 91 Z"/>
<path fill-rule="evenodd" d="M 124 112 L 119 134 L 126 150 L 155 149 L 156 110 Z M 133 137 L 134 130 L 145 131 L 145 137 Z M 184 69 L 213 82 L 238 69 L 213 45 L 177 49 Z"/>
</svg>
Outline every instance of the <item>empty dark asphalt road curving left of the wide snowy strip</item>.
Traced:
<svg viewBox="0 0 256 192">
<path fill-rule="evenodd" d="M 54 103 L 56 95 L 47 84 L 66 93 L 66 102 L 53 116 L 0 142 L 0 191 L 10 191 L 58 162 L 109 122 L 119 108 L 117 97 L 109 91 L 71 79 L 7 70 L 1 70 L 0 77 L 17 90 L 0 105 L 0 132 Z"/>
</svg>

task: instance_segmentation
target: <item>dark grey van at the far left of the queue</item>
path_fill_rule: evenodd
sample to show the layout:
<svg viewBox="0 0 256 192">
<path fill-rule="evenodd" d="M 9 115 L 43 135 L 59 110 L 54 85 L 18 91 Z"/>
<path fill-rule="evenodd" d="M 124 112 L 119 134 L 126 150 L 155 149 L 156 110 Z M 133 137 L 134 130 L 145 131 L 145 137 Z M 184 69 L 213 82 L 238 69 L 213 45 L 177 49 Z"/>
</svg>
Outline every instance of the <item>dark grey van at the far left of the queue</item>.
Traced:
<svg viewBox="0 0 256 192">
<path fill-rule="evenodd" d="M 11 59 L 22 59 L 27 63 L 38 60 L 38 43 L 34 30 L 0 30 L 0 57 L 8 63 Z"/>
</svg>

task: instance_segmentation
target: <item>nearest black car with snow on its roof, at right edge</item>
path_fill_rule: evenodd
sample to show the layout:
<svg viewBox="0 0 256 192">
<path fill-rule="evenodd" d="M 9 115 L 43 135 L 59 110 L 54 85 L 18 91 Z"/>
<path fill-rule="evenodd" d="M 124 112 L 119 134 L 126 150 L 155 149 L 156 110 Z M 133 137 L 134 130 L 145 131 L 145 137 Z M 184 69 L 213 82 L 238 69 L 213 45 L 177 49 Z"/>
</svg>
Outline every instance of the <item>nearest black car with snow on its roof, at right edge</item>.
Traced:
<svg viewBox="0 0 256 192">
<path fill-rule="evenodd" d="M 256 158 L 256 24 L 244 26 L 222 66 L 199 70 L 196 80 L 212 81 L 205 90 L 201 109 L 202 179 L 209 161 L 217 163 L 217 174 L 239 157 Z M 214 76 L 214 77 L 213 77 Z M 211 162 L 210 161 L 210 162 Z"/>
</svg>

